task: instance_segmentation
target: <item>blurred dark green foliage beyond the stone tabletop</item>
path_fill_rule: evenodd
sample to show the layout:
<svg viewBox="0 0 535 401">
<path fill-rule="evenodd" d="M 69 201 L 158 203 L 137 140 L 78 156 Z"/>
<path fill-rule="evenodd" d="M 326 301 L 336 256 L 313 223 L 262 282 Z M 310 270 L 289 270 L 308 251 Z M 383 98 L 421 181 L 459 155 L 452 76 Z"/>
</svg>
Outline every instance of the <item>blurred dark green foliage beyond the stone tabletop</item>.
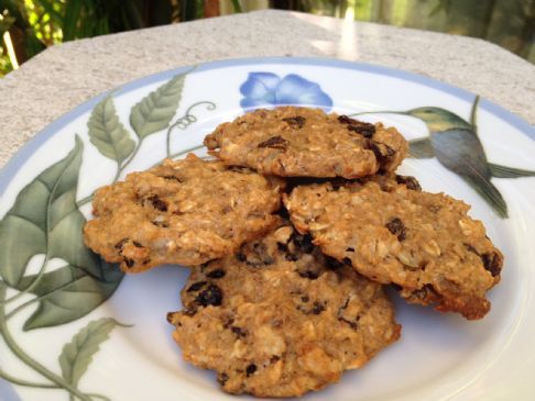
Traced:
<svg viewBox="0 0 535 401">
<path fill-rule="evenodd" d="M 0 76 L 65 41 L 266 8 L 482 37 L 535 63 L 535 0 L 0 0 Z"/>
</svg>

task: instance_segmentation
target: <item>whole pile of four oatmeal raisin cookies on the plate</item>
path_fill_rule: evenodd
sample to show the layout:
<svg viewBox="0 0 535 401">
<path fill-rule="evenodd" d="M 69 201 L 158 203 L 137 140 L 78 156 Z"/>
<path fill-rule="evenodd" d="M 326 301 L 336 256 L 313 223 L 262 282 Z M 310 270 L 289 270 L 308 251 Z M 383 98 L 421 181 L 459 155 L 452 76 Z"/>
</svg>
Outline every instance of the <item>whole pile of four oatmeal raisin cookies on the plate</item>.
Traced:
<svg viewBox="0 0 535 401">
<path fill-rule="evenodd" d="M 125 272 L 189 266 L 168 313 L 184 358 L 230 393 L 296 397 L 400 337 L 384 287 L 481 319 L 503 257 L 469 205 L 395 169 L 393 127 L 321 110 L 256 110 L 95 196 L 87 245 Z"/>
</svg>

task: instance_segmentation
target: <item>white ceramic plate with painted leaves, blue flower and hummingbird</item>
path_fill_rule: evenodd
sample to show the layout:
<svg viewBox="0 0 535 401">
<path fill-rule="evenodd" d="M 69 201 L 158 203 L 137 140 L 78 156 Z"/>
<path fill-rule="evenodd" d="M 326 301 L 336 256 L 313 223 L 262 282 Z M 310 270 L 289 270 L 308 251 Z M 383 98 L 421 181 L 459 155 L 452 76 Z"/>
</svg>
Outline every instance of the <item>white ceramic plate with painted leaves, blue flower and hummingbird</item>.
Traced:
<svg viewBox="0 0 535 401">
<path fill-rule="evenodd" d="M 427 191 L 472 204 L 471 215 L 505 255 L 483 320 L 407 305 L 394 294 L 401 339 L 306 398 L 535 399 L 533 127 L 416 75 L 269 58 L 181 68 L 118 88 L 51 124 L 3 168 L 2 401 L 233 399 L 218 389 L 212 372 L 186 365 L 171 338 L 165 315 L 181 308 L 187 269 L 166 266 L 122 278 L 84 247 L 80 229 L 96 188 L 168 155 L 205 154 L 203 138 L 217 124 L 247 108 L 284 103 L 346 114 L 405 112 L 360 119 L 397 126 L 418 157 L 406 159 L 401 171 Z"/>
</svg>

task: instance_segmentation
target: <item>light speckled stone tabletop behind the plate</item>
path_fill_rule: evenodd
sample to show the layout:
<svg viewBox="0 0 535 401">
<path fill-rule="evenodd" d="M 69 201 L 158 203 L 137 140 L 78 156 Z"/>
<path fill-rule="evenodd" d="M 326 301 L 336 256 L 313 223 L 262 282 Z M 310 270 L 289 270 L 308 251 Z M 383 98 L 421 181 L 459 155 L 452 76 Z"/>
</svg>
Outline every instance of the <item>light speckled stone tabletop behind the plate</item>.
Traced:
<svg viewBox="0 0 535 401">
<path fill-rule="evenodd" d="M 383 65 L 479 93 L 535 124 L 535 66 L 491 43 L 258 11 L 69 42 L 0 79 L 0 166 L 77 104 L 133 79 L 221 58 L 316 56 Z"/>
</svg>

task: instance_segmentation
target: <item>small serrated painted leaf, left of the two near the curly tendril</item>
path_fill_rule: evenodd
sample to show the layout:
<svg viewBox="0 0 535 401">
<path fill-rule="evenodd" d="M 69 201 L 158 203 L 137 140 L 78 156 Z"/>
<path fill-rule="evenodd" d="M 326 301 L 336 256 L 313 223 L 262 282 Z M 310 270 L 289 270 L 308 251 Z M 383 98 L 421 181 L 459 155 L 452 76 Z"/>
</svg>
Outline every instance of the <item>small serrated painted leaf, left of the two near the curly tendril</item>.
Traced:
<svg viewBox="0 0 535 401">
<path fill-rule="evenodd" d="M 89 138 L 97 149 L 118 164 L 130 156 L 135 147 L 135 142 L 117 116 L 111 97 L 106 97 L 92 109 L 87 127 Z"/>
</svg>

